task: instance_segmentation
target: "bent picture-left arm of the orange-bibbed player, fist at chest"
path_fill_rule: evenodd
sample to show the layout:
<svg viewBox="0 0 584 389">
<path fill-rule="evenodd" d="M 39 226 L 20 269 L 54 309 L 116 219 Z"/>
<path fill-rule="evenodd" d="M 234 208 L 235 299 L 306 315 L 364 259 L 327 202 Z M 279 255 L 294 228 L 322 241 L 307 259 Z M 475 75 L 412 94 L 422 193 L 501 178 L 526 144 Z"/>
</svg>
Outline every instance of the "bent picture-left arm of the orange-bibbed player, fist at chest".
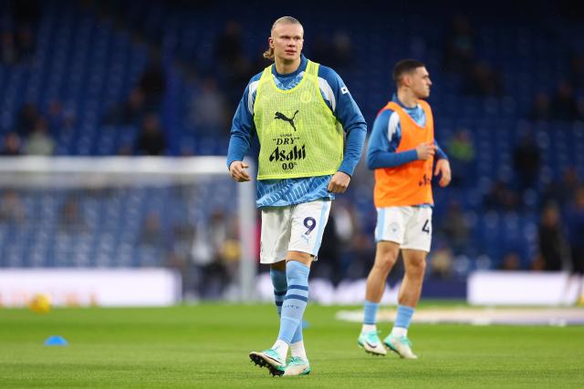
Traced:
<svg viewBox="0 0 584 389">
<path fill-rule="evenodd" d="M 369 169 L 395 168 L 418 159 L 433 156 L 434 146 L 421 143 L 416 148 L 396 151 L 401 141 L 399 117 L 391 116 L 393 111 L 386 109 L 375 119 L 367 148 L 367 166 Z"/>
</svg>

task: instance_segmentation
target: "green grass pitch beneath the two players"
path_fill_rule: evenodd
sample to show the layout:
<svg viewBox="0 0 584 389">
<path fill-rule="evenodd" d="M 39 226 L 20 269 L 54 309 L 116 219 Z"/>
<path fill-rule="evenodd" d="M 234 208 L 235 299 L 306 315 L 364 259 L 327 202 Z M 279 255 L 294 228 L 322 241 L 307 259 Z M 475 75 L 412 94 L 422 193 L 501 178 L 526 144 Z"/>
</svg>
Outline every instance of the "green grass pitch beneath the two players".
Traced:
<svg viewBox="0 0 584 389">
<path fill-rule="evenodd" d="M 0 387 L 584 387 L 584 327 L 414 324 L 420 359 L 403 361 L 362 352 L 338 310 L 308 306 L 313 374 L 273 378 L 247 357 L 275 340 L 271 305 L 0 309 Z"/>
</svg>

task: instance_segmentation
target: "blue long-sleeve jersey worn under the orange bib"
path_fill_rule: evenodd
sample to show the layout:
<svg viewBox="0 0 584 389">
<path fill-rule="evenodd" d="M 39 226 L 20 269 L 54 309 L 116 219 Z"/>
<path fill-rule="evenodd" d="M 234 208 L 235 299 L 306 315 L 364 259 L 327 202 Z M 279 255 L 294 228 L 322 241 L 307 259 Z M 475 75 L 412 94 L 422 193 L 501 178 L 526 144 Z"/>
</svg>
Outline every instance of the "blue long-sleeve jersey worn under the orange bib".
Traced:
<svg viewBox="0 0 584 389">
<path fill-rule="evenodd" d="M 399 104 L 408 115 L 420 126 L 426 124 L 426 115 L 420 107 L 405 107 L 394 94 L 391 101 Z M 400 116 L 392 109 L 385 109 L 375 119 L 367 148 L 367 166 L 369 169 L 395 168 L 418 159 L 415 148 L 396 151 L 401 142 Z M 434 139 L 436 159 L 448 159 L 443 149 Z"/>
</svg>

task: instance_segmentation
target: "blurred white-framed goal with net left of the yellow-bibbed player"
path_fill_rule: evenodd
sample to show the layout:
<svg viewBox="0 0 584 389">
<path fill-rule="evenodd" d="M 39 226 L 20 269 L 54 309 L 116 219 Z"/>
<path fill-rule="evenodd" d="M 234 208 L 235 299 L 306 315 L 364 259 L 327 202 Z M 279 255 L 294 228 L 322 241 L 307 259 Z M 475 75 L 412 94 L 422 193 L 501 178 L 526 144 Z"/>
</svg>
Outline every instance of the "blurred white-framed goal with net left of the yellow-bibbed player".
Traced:
<svg viewBox="0 0 584 389">
<path fill-rule="evenodd" d="M 224 157 L 4 158 L 0 269 L 172 268 L 187 299 L 248 300 L 254 197 Z"/>
</svg>

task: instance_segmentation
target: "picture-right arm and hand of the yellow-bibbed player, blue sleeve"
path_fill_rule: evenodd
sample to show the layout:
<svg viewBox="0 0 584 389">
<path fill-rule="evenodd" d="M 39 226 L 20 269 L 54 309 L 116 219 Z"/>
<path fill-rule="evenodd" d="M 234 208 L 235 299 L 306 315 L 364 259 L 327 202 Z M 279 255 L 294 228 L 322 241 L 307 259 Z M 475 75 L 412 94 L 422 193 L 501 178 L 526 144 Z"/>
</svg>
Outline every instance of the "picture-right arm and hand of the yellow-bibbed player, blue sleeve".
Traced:
<svg viewBox="0 0 584 389">
<path fill-rule="evenodd" d="M 322 97 L 347 135 L 339 171 L 328 183 L 328 190 L 343 193 L 349 186 L 350 178 L 361 159 L 367 136 L 367 122 L 349 89 L 334 70 L 321 66 L 318 68 L 318 78 Z"/>
</svg>

